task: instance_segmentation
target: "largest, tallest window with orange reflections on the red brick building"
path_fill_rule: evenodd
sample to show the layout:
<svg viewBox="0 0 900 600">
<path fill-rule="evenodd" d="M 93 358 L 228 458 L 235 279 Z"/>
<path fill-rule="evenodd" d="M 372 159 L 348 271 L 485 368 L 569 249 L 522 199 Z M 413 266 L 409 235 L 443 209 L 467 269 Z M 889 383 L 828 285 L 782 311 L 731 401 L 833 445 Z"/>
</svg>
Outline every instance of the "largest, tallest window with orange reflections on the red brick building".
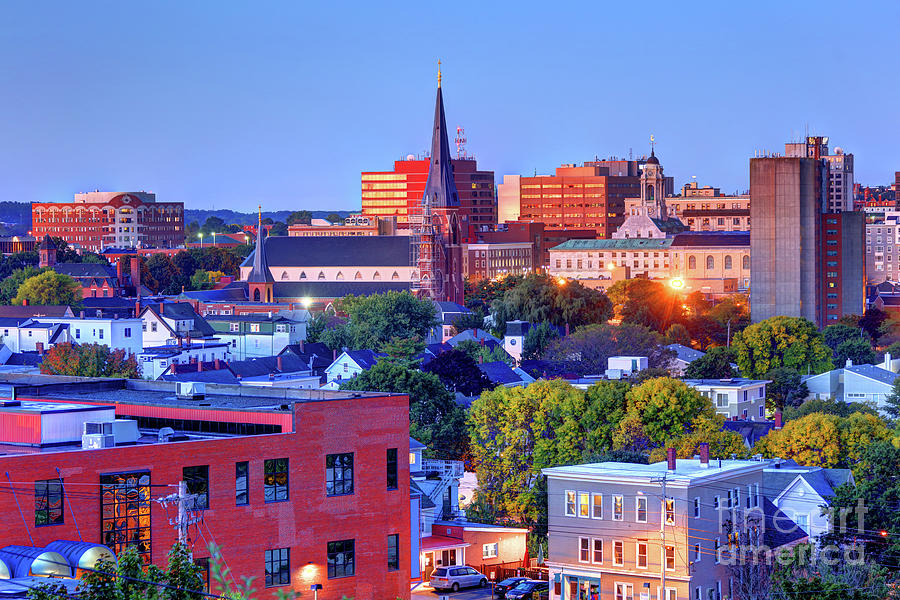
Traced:
<svg viewBox="0 0 900 600">
<path fill-rule="evenodd" d="M 135 471 L 100 476 L 101 543 L 117 556 L 137 547 L 150 563 L 150 472 Z"/>
</svg>

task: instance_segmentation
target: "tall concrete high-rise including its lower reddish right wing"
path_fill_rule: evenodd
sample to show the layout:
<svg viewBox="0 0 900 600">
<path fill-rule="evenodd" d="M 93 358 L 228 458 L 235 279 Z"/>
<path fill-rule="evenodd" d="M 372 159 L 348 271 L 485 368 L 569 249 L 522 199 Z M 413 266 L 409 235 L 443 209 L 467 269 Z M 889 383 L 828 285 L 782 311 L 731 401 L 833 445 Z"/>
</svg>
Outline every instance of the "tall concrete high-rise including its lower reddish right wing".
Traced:
<svg viewBox="0 0 900 600">
<path fill-rule="evenodd" d="M 865 219 L 829 199 L 822 156 L 750 160 L 750 316 L 784 315 L 820 327 L 860 314 Z"/>
</svg>

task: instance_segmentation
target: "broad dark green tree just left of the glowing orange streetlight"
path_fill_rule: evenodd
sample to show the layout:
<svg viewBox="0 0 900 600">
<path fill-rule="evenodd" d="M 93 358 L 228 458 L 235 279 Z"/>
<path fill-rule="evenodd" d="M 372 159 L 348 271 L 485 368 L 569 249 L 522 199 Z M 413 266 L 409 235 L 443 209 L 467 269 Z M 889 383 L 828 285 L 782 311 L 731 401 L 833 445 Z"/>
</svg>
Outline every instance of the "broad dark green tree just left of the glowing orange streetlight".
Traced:
<svg viewBox="0 0 900 600">
<path fill-rule="evenodd" d="M 612 316 L 612 303 L 603 292 L 577 281 L 560 282 L 549 275 L 526 276 L 491 305 L 494 328 L 502 335 L 507 321 L 547 321 L 552 325 L 579 327 L 605 323 Z"/>
</svg>

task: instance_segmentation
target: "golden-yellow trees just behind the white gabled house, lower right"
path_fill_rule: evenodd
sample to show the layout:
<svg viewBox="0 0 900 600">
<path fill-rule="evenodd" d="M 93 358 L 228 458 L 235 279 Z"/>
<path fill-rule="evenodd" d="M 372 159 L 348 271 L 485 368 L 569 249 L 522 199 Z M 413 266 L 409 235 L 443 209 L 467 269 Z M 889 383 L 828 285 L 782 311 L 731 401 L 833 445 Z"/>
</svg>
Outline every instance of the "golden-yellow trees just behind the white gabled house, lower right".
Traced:
<svg viewBox="0 0 900 600">
<path fill-rule="evenodd" d="M 804 466 L 855 470 L 868 445 L 890 440 L 893 435 L 877 415 L 812 413 L 769 432 L 753 446 L 753 452 L 768 458 L 792 458 Z"/>
</svg>

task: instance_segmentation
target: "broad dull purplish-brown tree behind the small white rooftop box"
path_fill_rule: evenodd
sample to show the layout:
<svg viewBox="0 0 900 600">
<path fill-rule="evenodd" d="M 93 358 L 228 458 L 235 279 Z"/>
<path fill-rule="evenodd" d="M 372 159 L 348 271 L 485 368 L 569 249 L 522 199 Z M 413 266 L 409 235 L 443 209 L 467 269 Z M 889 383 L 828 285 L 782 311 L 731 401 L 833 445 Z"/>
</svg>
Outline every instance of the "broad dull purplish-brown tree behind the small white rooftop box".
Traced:
<svg viewBox="0 0 900 600">
<path fill-rule="evenodd" d="M 552 342 L 544 358 L 568 362 L 578 375 L 605 373 L 609 357 L 621 355 L 646 356 L 648 366 L 668 368 L 675 353 L 662 341 L 662 336 L 643 325 L 587 325 Z"/>
</svg>

